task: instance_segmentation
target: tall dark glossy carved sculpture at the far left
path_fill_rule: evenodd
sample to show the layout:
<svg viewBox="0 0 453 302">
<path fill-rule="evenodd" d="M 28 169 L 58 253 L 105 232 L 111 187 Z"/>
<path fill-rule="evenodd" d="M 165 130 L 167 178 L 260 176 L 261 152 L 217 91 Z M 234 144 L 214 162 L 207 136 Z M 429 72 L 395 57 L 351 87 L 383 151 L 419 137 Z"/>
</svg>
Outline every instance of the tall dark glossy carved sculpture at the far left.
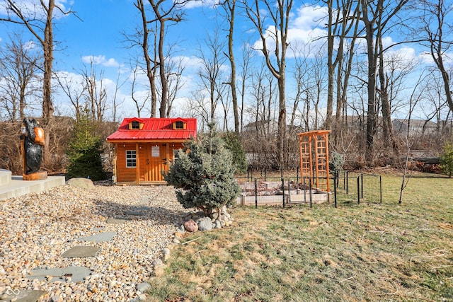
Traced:
<svg viewBox="0 0 453 302">
<path fill-rule="evenodd" d="M 35 133 L 35 128 L 40 128 L 35 119 L 23 119 L 21 139 L 23 140 L 23 173 L 25 175 L 38 172 L 41 166 L 42 146 L 38 136 L 43 133 Z M 42 131 L 42 128 L 40 130 Z"/>
</svg>

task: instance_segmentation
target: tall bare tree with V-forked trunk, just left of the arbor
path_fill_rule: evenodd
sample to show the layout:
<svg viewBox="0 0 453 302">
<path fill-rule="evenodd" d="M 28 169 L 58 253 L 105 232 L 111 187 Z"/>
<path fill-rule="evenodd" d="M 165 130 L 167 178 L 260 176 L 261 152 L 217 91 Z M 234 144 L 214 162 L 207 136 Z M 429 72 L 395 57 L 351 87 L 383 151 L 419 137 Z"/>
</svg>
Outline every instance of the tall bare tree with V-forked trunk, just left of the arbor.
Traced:
<svg viewBox="0 0 453 302">
<path fill-rule="evenodd" d="M 293 0 L 277 1 L 251 1 L 249 5 L 244 2 L 248 19 L 253 23 L 260 35 L 260 52 L 265 57 L 266 66 L 275 76 L 278 83 L 279 108 L 278 108 L 278 134 L 277 156 L 280 168 L 285 163 L 285 137 L 286 137 L 286 52 L 288 42 L 288 24 L 291 15 Z M 265 11 L 265 13 L 263 13 Z M 270 23 L 268 24 L 268 17 Z M 270 42 L 275 45 L 271 52 Z"/>
</svg>

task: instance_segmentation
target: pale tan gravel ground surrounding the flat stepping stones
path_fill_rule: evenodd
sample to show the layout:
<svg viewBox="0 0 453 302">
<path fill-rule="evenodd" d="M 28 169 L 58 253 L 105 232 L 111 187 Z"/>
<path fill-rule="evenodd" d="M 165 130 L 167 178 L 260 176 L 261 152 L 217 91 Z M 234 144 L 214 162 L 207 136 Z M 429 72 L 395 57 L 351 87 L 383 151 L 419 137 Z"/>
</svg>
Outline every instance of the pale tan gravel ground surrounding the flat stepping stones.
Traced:
<svg viewBox="0 0 453 302">
<path fill-rule="evenodd" d="M 134 211 L 145 209 L 143 215 Z M 128 214 L 125 214 L 128 213 Z M 132 214 L 131 214 L 132 213 Z M 0 202 L 0 293 L 8 289 L 46 291 L 39 301 L 130 301 L 146 281 L 152 262 L 171 242 L 185 214 L 173 187 L 125 186 L 86 191 L 64 185 L 40 194 Z M 106 223 L 124 217 L 125 223 Z M 109 242 L 79 237 L 117 232 Z M 101 248 L 96 257 L 64 258 L 76 245 Z M 32 269 L 87 267 L 84 281 L 31 280 Z"/>
</svg>

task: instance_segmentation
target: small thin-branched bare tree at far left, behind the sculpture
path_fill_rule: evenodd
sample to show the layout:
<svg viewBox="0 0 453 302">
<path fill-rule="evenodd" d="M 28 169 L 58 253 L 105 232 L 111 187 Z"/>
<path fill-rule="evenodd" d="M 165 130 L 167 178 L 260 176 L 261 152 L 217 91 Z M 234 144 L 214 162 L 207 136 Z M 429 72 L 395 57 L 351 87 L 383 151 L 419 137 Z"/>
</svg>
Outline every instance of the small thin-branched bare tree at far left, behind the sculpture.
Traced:
<svg viewBox="0 0 453 302">
<path fill-rule="evenodd" d="M 36 76 L 40 54 L 20 34 L 12 35 L 10 41 L 0 49 L 0 100 L 8 120 L 15 122 L 23 120 L 25 108 L 40 92 Z"/>
</svg>

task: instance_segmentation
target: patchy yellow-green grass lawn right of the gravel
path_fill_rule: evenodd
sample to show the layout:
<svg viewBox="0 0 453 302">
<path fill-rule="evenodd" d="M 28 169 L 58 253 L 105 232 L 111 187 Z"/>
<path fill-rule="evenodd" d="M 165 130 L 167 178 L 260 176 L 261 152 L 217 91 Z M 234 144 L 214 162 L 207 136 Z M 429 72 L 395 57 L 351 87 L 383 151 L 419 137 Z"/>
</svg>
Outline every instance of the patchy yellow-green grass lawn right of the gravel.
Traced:
<svg viewBox="0 0 453 302">
<path fill-rule="evenodd" d="M 402 204 L 401 176 L 382 182 L 382 204 L 230 210 L 173 248 L 150 301 L 453 301 L 453 178 L 413 175 Z"/>
</svg>

